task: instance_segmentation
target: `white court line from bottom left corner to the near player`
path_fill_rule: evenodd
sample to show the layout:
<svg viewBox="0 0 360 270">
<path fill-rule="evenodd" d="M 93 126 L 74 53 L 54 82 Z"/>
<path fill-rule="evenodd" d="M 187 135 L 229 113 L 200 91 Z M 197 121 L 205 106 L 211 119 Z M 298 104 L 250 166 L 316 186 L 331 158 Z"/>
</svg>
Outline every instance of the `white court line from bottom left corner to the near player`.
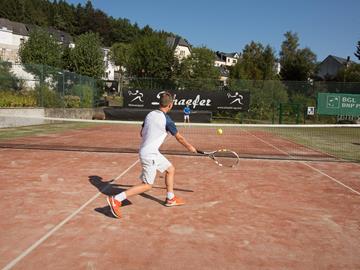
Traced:
<svg viewBox="0 0 360 270">
<path fill-rule="evenodd" d="M 118 175 L 114 181 L 120 179 L 123 175 L 125 175 L 132 167 L 134 167 L 139 162 L 139 159 L 137 159 L 132 165 L 130 165 L 129 168 L 127 168 L 125 171 L 123 171 L 120 175 Z M 114 182 L 113 181 L 113 182 Z M 108 186 L 107 184 L 101 191 L 105 190 Z M 53 229 L 51 229 L 48 233 L 46 233 L 43 237 L 41 237 L 38 241 L 36 241 L 34 244 L 32 244 L 29 248 L 27 248 L 24 252 L 22 252 L 19 256 L 17 256 L 15 259 L 13 259 L 11 262 L 9 262 L 2 270 L 8 270 L 14 267 L 19 261 L 21 261 L 23 258 L 25 258 L 27 255 L 29 255 L 35 248 L 37 248 L 39 245 L 41 245 L 46 239 L 48 239 L 50 236 L 52 236 L 56 231 L 58 231 L 62 226 L 64 226 L 68 221 L 70 221 L 73 217 L 75 217 L 78 213 L 80 213 L 86 206 L 88 206 L 90 203 L 92 203 L 95 199 L 97 199 L 102 192 L 96 193 L 91 199 L 89 199 L 87 202 L 85 202 L 82 206 L 80 206 L 78 209 L 76 209 L 71 215 L 69 215 L 67 218 L 65 218 L 63 221 L 61 221 L 58 225 L 56 225 Z"/>
</svg>

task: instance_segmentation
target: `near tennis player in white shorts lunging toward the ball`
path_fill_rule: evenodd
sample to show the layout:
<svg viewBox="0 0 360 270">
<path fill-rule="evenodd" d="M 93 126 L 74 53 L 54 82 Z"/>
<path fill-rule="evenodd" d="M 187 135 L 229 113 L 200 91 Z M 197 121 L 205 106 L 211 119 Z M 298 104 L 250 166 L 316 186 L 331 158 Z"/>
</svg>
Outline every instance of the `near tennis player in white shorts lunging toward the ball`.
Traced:
<svg viewBox="0 0 360 270">
<path fill-rule="evenodd" d="M 150 112 L 142 125 L 139 156 L 142 166 L 140 175 L 141 184 L 133 186 L 115 196 L 107 197 L 107 202 L 111 212 L 117 218 L 121 217 L 120 207 L 122 201 L 134 195 L 149 191 L 155 181 L 156 171 L 165 172 L 165 184 L 167 195 L 165 206 L 183 205 L 185 202 L 174 194 L 174 175 L 175 167 L 164 157 L 159 148 L 164 142 L 167 133 L 175 136 L 190 152 L 196 153 L 196 149 L 179 133 L 175 123 L 167 113 L 173 107 L 173 97 L 169 92 L 164 92 L 160 96 L 160 108 Z"/>
</svg>

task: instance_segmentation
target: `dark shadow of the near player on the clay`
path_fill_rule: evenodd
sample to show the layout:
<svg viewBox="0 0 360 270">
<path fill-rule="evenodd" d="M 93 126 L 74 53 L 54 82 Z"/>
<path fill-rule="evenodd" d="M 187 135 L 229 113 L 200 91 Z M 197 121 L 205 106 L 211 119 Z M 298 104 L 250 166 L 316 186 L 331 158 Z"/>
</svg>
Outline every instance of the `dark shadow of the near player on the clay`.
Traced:
<svg viewBox="0 0 360 270">
<path fill-rule="evenodd" d="M 132 187 L 131 185 L 119 185 L 119 184 L 115 184 L 114 179 L 111 179 L 109 181 L 104 181 L 103 178 L 101 176 L 98 175 L 90 175 L 89 176 L 89 182 L 95 186 L 99 192 L 101 192 L 102 194 L 106 195 L 106 196 L 112 196 L 112 195 L 116 195 L 120 192 L 125 191 L 126 189 L 124 187 Z M 155 201 L 161 205 L 164 204 L 163 200 L 160 200 L 156 197 L 153 197 L 149 194 L 146 193 L 142 193 L 140 194 L 140 196 Z M 131 202 L 129 200 L 125 200 L 123 201 L 122 207 L 128 206 L 130 205 Z M 104 206 L 104 207 L 98 207 L 94 209 L 95 211 L 104 214 L 105 216 L 108 217 L 113 217 L 111 210 L 110 210 L 110 206 Z"/>
</svg>

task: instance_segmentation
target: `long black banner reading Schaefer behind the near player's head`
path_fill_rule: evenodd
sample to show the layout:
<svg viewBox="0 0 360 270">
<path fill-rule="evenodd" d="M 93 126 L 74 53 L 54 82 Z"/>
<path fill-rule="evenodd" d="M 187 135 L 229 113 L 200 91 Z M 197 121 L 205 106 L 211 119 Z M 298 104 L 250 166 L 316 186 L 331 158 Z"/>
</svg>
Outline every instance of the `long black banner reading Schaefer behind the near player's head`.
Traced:
<svg viewBox="0 0 360 270">
<path fill-rule="evenodd" d="M 127 108 L 157 109 L 160 94 L 164 91 L 130 89 L 124 91 Z M 242 91 L 170 91 L 174 97 L 174 109 L 182 110 L 186 104 L 192 110 L 249 110 L 250 94 Z"/>
</svg>

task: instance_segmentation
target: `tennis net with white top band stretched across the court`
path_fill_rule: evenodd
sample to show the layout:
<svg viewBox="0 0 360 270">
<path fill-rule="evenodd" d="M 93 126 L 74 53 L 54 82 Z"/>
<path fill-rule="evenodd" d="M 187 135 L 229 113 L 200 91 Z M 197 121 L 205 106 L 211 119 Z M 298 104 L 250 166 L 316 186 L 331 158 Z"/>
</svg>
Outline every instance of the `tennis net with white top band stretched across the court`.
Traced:
<svg viewBox="0 0 360 270">
<path fill-rule="evenodd" d="M 0 148 L 137 153 L 142 122 L 0 116 Z M 203 151 L 230 149 L 243 158 L 360 162 L 360 125 L 183 124 Z M 222 134 L 217 133 L 222 129 Z M 164 154 L 192 155 L 175 138 Z"/>
</svg>

